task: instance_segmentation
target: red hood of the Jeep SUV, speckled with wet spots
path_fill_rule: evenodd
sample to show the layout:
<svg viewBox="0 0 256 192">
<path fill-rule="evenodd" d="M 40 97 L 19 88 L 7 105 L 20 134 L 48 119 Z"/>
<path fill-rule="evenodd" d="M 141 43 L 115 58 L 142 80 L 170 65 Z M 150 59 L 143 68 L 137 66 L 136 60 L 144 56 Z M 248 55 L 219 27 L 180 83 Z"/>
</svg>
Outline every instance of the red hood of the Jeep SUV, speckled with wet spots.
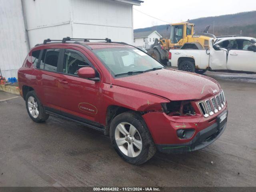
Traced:
<svg viewBox="0 0 256 192">
<path fill-rule="evenodd" d="M 116 78 L 115 85 L 148 92 L 169 100 L 200 100 L 220 92 L 215 80 L 176 70 L 155 70 Z M 217 90 L 217 92 L 213 92 Z"/>
</svg>

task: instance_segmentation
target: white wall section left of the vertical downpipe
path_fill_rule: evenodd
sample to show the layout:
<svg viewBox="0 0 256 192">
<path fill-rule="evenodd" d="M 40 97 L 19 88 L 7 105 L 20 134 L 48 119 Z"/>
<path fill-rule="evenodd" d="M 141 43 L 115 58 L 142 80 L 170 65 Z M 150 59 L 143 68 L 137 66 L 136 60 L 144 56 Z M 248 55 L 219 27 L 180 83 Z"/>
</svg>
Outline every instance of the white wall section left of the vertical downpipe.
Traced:
<svg viewBox="0 0 256 192">
<path fill-rule="evenodd" d="M 6 78 L 17 77 L 28 53 L 20 0 L 0 0 L 0 68 Z"/>
</svg>

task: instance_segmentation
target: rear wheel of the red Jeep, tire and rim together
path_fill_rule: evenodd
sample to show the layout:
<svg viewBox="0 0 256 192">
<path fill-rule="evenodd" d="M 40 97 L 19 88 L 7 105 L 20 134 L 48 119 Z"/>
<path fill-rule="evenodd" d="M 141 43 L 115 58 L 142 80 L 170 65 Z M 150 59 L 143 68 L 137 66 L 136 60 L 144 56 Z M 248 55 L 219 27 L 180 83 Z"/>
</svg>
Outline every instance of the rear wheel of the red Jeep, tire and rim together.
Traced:
<svg viewBox="0 0 256 192">
<path fill-rule="evenodd" d="M 35 91 L 30 91 L 26 94 L 26 108 L 28 115 L 34 122 L 44 122 L 49 118 L 49 114 L 44 111 L 44 106 Z"/>
</svg>

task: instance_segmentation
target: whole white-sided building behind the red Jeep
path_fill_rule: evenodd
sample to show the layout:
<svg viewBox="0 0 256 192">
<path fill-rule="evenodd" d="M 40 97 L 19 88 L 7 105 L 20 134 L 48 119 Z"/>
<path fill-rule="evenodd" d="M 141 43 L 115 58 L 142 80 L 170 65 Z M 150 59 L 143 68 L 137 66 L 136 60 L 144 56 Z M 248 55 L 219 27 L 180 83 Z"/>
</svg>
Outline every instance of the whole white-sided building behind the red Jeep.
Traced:
<svg viewBox="0 0 256 192">
<path fill-rule="evenodd" d="M 28 50 L 44 39 L 110 38 L 133 42 L 140 0 L 0 0 L 0 69 L 17 77 Z"/>
</svg>

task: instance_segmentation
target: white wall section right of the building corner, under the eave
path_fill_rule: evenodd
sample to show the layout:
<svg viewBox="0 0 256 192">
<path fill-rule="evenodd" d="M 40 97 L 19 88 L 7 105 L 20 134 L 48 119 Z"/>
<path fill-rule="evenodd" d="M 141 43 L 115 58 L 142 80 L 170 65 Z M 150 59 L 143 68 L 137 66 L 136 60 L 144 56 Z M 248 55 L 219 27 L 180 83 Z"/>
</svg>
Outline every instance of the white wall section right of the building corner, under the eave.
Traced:
<svg viewBox="0 0 256 192">
<path fill-rule="evenodd" d="M 73 37 L 111 38 L 132 44 L 132 5 L 104 0 L 71 0 Z"/>
</svg>

